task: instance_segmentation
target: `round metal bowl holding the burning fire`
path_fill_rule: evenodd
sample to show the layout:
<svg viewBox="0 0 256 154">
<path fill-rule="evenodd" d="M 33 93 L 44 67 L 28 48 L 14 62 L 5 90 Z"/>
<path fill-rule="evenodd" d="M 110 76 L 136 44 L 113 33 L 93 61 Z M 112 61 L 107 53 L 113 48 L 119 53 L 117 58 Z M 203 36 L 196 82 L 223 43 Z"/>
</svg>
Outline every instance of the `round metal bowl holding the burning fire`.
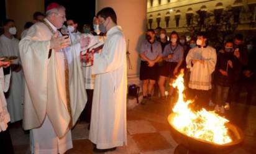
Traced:
<svg viewBox="0 0 256 154">
<path fill-rule="evenodd" d="M 194 137 L 189 137 L 175 129 L 174 125 L 170 122 L 175 117 L 175 113 L 168 116 L 168 122 L 171 125 L 171 134 L 177 143 L 183 144 L 190 152 L 194 153 L 209 153 L 209 154 L 224 154 L 231 153 L 235 148 L 239 147 L 239 144 L 244 140 L 244 134 L 242 130 L 235 125 L 230 123 L 226 124 L 231 134 L 232 142 L 219 145 L 213 142 L 208 142 L 206 140 L 201 140 Z"/>
</svg>

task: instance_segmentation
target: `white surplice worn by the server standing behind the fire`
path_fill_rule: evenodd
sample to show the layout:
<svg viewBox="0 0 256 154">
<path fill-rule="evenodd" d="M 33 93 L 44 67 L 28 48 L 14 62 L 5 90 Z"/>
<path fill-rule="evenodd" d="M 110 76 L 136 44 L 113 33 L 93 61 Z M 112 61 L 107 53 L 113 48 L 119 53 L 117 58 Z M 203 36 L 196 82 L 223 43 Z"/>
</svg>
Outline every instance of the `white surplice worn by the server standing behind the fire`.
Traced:
<svg viewBox="0 0 256 154">
<path fill-rule="evenodd" d="M 204 63 L 194 63 L 192 60 L 204 60 Z M 186 56 L 187 68 L 190 69 L 188 87 L 198 90 L 211 89 L 211 75 L 215 70 L 217 61 L 216 50 L 209 45 L 204 48 L 191 48 Z"/>
</svg>

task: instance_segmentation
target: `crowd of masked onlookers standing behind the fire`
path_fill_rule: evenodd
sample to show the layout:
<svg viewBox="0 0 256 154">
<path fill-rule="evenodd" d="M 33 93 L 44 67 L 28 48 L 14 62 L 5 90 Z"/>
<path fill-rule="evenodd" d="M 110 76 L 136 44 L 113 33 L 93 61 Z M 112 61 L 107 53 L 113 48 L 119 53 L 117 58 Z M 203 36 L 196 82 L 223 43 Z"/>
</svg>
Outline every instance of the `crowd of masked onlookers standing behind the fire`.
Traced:
<svg viewBox="0 0 256 154">
<path fill-rule="evenodd" d="M 186 98 L 194 100 L 196 107 L 214 107 L 224 114 L 231 102 L 239 102 L 242 90 L 247 93 L 246 104 L 252 104 L 256 39 L 244 41 L 242 34 L 235 34 L 219 50 L 210 43 L 206 32 L 198 32 L 196 38 L 188 40 L 175 31 L 168 36 L 160 27 L 147 30 L 139 54 L 141 104 L 152 95 L 170 101 L 175 95 L 171 84 L 180 70 L 184 72 Z"/>
</svg>

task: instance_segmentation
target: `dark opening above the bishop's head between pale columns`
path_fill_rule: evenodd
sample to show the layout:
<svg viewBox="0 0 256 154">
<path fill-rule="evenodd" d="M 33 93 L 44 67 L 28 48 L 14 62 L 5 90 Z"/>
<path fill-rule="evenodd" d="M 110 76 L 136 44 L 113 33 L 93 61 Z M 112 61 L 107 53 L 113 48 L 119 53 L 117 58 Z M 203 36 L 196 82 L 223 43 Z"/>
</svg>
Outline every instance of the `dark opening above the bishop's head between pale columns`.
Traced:
<svg viewBox="0 0 256 154">
<path fill-rule="evenodd" d="M 66 19 L 73 19 L 78 25 L 93 25 L 93 17 L 95 16 L 95 0 L 79 1 L 79 0 L 45 0 L 45 8 L 51 2 L 57 2 L 66 8 Z"/>
</svg>

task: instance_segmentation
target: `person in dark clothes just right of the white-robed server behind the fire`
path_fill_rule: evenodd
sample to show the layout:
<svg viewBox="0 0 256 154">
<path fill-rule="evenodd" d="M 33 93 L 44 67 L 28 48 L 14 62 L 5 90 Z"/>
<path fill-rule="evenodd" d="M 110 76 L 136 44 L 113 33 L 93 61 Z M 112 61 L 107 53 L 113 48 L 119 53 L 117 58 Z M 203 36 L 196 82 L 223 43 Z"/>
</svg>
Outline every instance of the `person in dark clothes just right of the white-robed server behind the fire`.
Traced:
<svg viewBox="0 0 256 154">
<path fill-rule="evenodd" d="M 225 109 L 229 109 L 227 96 L 234 82 L 234 71 L 237 68 L 238 61 L 234 56 L 234 48 L 232 40 L 227 40 L 224 45 L 223 52 L 217 55 L 216 73 L 214 74 L 214 90 L 216 112 L 225 113 Z"/>
</svg>

